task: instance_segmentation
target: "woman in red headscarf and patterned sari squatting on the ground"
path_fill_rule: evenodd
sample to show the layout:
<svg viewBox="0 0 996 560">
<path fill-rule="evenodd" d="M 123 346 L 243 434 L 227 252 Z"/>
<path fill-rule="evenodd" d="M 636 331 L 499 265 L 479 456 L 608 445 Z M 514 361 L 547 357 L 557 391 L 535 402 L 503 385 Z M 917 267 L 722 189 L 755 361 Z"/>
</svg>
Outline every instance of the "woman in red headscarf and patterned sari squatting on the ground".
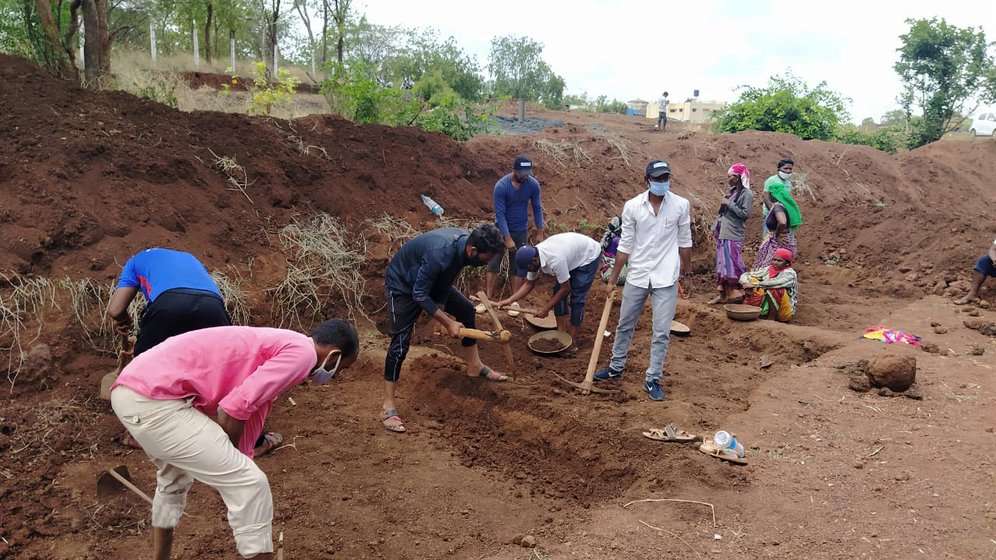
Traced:
<svg viewBox="0 0 996 560">
<path fill-rule="evenodd" d="M 762 318 L 785 323 L 795 315 L 799 278 L 788 249 L 776 249 L 767 268 L 745 272 L 740 284 L 747 290 L 744 303 L 760 307 Z"/>
</svg>

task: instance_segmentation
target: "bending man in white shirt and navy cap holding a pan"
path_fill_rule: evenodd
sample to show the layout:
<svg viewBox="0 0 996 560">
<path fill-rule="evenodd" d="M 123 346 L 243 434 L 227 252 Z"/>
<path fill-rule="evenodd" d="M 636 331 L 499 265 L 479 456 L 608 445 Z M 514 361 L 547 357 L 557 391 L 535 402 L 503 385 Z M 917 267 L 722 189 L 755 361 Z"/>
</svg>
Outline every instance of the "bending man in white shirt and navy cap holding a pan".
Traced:
<svg viewBox="0 0 996 560">
<path fill-rule="evenodd" d="M 540 272 L 553 276 L 556 279 L 553 297 L 538 309 L 536 317 L 542 319 L 553 310 L 557 317 L 557 330 L 571 335 L 575 341 L 568 352 L 576 351 L 585 299 L 602 264 L 602 246 L 587 235 L 558 233 L 535 247 L 527 245 L 516 251 L 515 264 L 518 274 L 525 276 L 526 282 L 498 304 L 511 305 L 529 295 L 536 286 Z"/>
</svg>

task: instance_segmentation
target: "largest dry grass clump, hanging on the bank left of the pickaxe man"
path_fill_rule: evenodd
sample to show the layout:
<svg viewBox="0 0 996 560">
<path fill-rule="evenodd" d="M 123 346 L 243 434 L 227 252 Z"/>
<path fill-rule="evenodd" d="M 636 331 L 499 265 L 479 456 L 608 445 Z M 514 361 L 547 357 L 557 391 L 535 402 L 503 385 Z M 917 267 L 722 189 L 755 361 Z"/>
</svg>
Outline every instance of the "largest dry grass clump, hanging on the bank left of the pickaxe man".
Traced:
<svg viewBox="0 0 996 560">
<path fill-rule="evenodd" d="M 301 328 L 324 319 L 328 300 L 338 295 L 350 315 L 369 319 L 363 308 L 365 280 L 360 272 L 366 241 L 351 235 L 337 218 L 319 214 L 311 222 L 292 223 L 280 230 L 287 251 L 287 273 L 269 292 L 277 304 L 280 324 Z"/>
</svg>

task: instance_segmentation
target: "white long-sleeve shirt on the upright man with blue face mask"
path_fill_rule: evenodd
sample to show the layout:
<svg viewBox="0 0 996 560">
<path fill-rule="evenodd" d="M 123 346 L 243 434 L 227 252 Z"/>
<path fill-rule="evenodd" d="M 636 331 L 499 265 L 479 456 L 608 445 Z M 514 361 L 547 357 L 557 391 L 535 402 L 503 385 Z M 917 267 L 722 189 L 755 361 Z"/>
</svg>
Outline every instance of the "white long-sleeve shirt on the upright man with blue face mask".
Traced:
<svg viewBox="0 0 996 560">
<path fill-rule="evenodd" d="M 692 246 L 692 219 L 688 200 L 667 193 L 654 215 L 649 192 L 626 201 L 622 213 L 619 251 L 629 255 L 626 282 L 641 288 L 667 288 L 678 281 L 678 248 Z"/>
</svg>

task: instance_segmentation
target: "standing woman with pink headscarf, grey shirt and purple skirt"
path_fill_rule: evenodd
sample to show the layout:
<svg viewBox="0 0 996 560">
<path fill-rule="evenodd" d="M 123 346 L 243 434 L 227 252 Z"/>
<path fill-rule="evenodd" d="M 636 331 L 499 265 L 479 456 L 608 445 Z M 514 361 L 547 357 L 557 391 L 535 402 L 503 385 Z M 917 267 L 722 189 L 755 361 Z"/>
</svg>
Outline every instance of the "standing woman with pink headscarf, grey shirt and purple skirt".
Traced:
<svg viewBox="0 0 996 560">
<path fill-rule="evenodd" d="M 740 302 L 744 298 L 740 275 L 747 267 L 742 253 L 754 194 L 750 191 L 750 171 L 746 165 L 733 164 L 727 176 L 730 192 L 719 205 L 713 228 L 716 238 L 716 290 L 719 294 L 710 304 Z"/>
</svg>

